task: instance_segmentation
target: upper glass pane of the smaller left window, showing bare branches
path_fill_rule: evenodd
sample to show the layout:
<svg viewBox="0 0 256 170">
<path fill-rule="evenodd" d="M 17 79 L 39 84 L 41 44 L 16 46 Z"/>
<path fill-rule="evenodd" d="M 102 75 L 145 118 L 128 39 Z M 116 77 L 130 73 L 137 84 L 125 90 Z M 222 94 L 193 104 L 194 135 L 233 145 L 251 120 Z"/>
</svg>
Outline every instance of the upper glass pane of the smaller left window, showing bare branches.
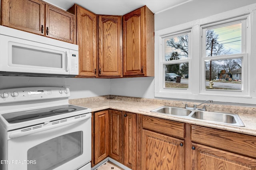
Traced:
<svg viewBox="0 0 256 170">
<path fill-rule="evenodd" d="M 165 61 L 188 58 L 188 34 L 165 39 Z"/>
</svg>

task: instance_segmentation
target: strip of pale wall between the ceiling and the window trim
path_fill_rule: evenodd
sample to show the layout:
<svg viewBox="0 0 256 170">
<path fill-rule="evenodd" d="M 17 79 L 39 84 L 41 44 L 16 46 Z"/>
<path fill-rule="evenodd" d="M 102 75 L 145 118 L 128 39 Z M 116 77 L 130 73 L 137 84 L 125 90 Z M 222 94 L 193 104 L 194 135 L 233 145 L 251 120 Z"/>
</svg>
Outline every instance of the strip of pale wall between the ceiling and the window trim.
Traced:
<svg viewBox="0 0 256 170">
<path fill-rule="evenodd" d="M 155 31 L 254 3 L 256 0 L 192 0 L 155 14 Z"/>
</svg>

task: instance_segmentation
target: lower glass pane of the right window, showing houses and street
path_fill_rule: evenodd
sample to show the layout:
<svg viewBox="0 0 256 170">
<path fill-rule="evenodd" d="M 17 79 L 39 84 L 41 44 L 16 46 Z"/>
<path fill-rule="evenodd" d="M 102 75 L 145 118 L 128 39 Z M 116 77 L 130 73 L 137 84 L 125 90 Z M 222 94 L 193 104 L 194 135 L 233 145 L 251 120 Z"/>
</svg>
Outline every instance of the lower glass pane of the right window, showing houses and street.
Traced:
<svg viewBox="0 0 256 170">
<path fill-rule="evenodd" d="M 242 58 L 205 61 L 205 69 L 206 89 L 242 90 Z"/>
</svg>

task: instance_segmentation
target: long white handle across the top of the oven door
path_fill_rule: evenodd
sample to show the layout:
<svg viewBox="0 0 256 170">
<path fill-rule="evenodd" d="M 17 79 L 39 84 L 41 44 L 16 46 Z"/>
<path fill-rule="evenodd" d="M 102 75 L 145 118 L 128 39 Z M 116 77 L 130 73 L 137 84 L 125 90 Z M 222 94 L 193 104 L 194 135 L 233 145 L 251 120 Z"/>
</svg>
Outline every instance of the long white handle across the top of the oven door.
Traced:
<svg viewBox="0 0 256 170">
<path fill-rule="evenodd" d="M 13 139 L 13 138 L 18 138 L 18 137 L 30 135 L 30 134 L 33 134 L 33 133 L 39 133 L 39 132 L 42 132 L 42 131 L 47 131 L 47 130 L 54 129 L 54 128 L 61 127 L 61 126 L 65 126 L 65 125 L 68 125 L 68 124 L 71 124 L 71 123 L 77 123 L 79 121 L 83 121 L 83 120 L 89 119 L 91 117 L 92 117 L 91 114 L 88 114 L 84 117 L 80 117 L 78 119 L 70 120 L 70 121 L 63 122 L 63 123 L 58 123 L 58 124 L 55 124 L 55 125 L 50 125 L 52 122 L 55 122 L 55 121 L 51 121 L 49 123 L 46 123 L 45 125 L 42 125 L 42 127 L 38 128 L 38 129 L 32 129 L 32 130 L 24 131 L 24 132 L 18 131 L 18 132 L 11 133 L 9 135 L 9 138 Z"/>
</svg>

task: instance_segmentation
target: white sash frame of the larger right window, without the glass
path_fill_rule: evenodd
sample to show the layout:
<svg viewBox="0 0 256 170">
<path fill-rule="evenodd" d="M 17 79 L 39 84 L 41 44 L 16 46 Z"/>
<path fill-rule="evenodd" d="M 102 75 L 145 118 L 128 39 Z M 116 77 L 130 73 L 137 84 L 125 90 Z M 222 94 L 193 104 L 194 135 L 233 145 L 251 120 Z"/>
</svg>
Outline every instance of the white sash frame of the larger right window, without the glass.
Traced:
<svg viewBox="0 0 256 170">
<path fill-rule="evenodd" d="M 248 67 L 248 48 L 246 46 L 248 43 L 246 42 L 246 37 L 248 35 L 248 30 L 246 27 L 248 27 L 247 23 L 249 20 L 248 15 L 239 16 L 227 20 L 222 21 L 216 21 L 214 23 L 201 25 L 201 51 L 202 51 L 202 57 L 201 57 L 201 74 L 202 74 L 202 81 L 201 81 L 201 89 L 200 94 L 205 95 L 219 95 L 219 96 L 248 96 L 248 69 L 245 69 Z M 241 42 L 241 53 L 238 54 L 229 54 L 229 55 L 218 55 L 218 56 L 212 56 L 212 57 L 206 57 L 206 30 L 208 29 L 214 29 L 221 26 L 227 26 L 232 25 L 236 23 L 242 23 L 242 42 Z M 210 60 L 225 60 L 225 59 L 236 59 L 236 58 L 242 58 L 242 82 L 241 82 L 241 90 L 214 90 L 214 89 L 206 89 L 205 84 L 205 61 Z M 230 94 L 232 92 L 232 94 Z"/>
</svg>

